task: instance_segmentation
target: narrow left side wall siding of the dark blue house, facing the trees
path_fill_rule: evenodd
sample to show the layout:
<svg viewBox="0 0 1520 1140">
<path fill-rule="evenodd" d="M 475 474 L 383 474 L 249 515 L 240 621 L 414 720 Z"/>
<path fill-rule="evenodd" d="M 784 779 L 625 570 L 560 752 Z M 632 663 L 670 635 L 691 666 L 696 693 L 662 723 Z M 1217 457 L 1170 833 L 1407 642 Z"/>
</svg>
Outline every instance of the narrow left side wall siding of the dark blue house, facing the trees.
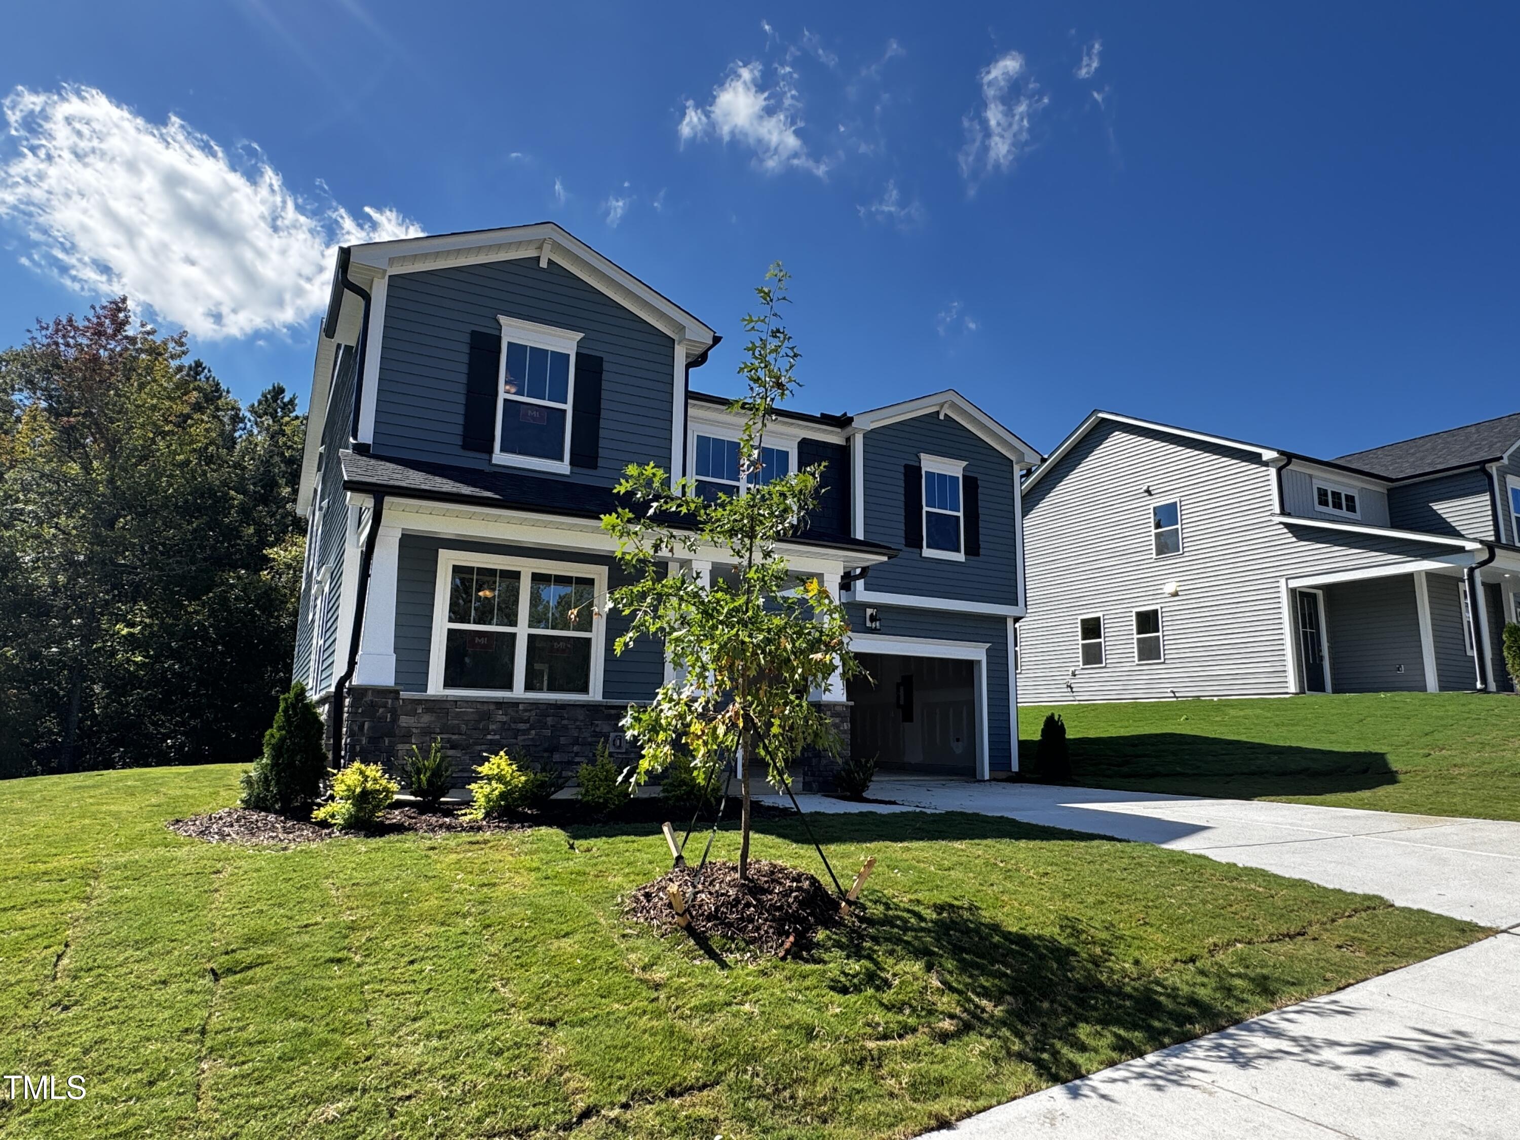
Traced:
<svg viewBox="0 0 1520 1140">
<path fill-rule="evenodd" d="M 301 608 L 296 616 L 292 679 L 304 681 L 312 696 L 333 687 L 337 667 L 337 616 L 342 606 L 344 556 L 347 555 L 350 524 L 348 499 L 344 494 L 344 465 L 339 462 L 337 453 L 348 445 L 348 427 L 354 413 L 354 363 L 353 347 L 344 345 L 339 350 L 337 368 L 333 374 L 327 420 L 322 423 L 322 450 L 318 461 L 321 471 L 316 476 L 316 492 L 312 497 L 315 534 L 309 534 L 309 541 L 315 546 L 316 553 L 310 559 L 310 573 L 301 576 Z M 307 430 L 310 427 L 312 424 L 307 421 Z M 324 568 L 327 581 L 331 582 L 327 591 L 325 620 L 316 613 L 318 599 L 313 599 L 318 590 L 318 576 Z M 325 635 L 313 676 L 312 638 L 318 629 L 324 629 Z"/>
</svg>

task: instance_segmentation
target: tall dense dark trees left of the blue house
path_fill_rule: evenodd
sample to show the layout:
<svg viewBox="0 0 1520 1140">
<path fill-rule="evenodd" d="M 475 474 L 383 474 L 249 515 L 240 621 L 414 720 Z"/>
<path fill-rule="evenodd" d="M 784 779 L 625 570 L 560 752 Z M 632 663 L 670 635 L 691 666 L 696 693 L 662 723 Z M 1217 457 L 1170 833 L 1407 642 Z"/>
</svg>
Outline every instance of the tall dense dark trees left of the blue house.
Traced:
<svg viewBox="0 0 1520 1140">
<path fill-rule="evenodd" d="M 246 762 L 289 684 L 306 418 L 125 298 L 0 351 L 0 775 Z"/>
</svg>

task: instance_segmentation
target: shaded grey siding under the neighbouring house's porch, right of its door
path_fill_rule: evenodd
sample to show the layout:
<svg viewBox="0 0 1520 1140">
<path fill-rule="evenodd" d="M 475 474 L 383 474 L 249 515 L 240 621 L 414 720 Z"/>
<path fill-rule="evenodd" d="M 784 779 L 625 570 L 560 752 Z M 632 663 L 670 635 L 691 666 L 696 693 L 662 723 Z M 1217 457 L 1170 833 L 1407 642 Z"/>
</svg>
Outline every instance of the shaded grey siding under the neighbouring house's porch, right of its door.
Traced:
<svg viewBox="0 0 1520 1140">
<path fill-rule="evenodd" d="M 1330 585 L 1324 597 L 1335 692 L 1424 692 L 1424 654 L 1412 575 Z M 1404 672 L 1395 672 L 1397 664 Z"/>
</svg>

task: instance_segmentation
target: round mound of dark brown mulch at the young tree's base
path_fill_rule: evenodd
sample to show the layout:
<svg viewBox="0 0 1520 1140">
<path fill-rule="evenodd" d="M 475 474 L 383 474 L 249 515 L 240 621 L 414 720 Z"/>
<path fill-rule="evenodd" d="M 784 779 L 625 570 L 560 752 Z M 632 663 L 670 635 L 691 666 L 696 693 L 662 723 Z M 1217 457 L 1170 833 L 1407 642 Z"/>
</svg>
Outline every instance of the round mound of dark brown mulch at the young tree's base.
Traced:
<svg viewBox="0 0 1520 1140">
<path fill-rule="evenodd" d="M 686 894 L 689 927 L 704 938 L 730 938 L 765 955 L 801 955 L 813 947 L 818 932 L 838 926 L 839 900 L 807 871 L 757 859 L 749 880 L 739 880 L 739 865 L 713 860 L 693 888 L 695 866 L 676 868 L 629 892 L 623 912 L 638 923 L 676 930 L 670 907 L 670 885 Z"/>
</svg>

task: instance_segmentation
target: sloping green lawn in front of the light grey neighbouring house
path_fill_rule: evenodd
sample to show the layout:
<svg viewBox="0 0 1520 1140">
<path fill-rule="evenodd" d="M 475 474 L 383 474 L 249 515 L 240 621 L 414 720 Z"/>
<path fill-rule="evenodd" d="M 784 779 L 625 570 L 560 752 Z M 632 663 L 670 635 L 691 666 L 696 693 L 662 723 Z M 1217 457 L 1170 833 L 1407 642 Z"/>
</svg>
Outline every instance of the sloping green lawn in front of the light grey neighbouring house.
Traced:
<svg viewBox="0 0 1520 1140">
<path fill-rule="evenodd" d="M 1357 693 L 1018 710 L 1066 719 L 1076 783 L 1520 821 L 1520 698 Z"/>
</svg>

